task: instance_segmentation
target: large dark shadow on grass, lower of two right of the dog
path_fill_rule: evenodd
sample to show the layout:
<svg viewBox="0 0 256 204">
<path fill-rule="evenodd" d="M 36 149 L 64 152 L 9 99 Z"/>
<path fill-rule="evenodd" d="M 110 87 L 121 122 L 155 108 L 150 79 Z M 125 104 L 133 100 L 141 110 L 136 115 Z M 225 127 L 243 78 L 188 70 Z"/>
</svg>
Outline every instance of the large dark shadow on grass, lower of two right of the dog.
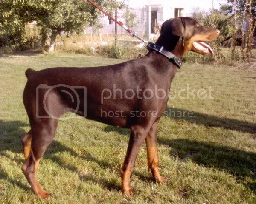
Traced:
<svg viewBox="0 0 256 204">
<path fill-rule="evenodd" d="M 251 190 L 256 190 L 256 153 L 189 139 L 158 138 L 157 141 L 170 147 L 170 156 L 178 156 L 181 161 L 188 157 L 196 164 L 225 170 L 241 179 Z M 245 177 L 252 178 L 254 182 L 245 183 Z"/>
</svg>

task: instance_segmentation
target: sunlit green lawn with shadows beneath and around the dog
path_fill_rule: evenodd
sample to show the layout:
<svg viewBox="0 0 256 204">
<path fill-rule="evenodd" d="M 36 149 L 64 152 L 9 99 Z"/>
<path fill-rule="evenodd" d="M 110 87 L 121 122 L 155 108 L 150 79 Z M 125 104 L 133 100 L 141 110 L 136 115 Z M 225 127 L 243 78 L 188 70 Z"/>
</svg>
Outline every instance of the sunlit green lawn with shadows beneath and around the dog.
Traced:
<svg viewBox="0 0 256 204">
<path fill-rule="evenodd" d="M 29 128 L 22 93 L 27 68 L 97 66 L 122 62 L 75 54 L 0 57 L 0 203 L 256 203 L 256 71 L 228 66 L 185 64 L 175 89 L 209 89 L 214 99 L 172 99 L 167 110 L 193 117 L 160 119 L 160 171 L 169 178 L 155 184 L 147 172 L 145 146 L 131 176 L 137 191 L 122 195 L 119 171 L 129 130 L 73 118 L 59 122 L 55 139 L 41 160 L 38 179 L 52 193 L 38 199 L 21 166 L 20 138 Z"/>
</svg>

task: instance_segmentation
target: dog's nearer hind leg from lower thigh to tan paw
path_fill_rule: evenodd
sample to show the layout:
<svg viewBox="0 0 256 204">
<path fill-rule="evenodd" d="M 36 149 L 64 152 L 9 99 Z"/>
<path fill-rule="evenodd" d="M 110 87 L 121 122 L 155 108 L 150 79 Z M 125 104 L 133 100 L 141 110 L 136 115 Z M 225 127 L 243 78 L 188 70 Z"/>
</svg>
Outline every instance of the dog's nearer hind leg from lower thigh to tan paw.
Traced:
<svg viewBox="0 0 256 204">
<path fill-rule="evenodd" d="M 36 173 L 41 157 L 52 142 L 57 124 L 57 120 L 47 119 L 44 120 L 44 122 L 31 125 L 31 151 L 22 167 L 23 173 L 29 181 L 33 192 L 43 199 L 48 198 L 50 194 L 44 191 L 38 183 Z M 29 136 L 27 139 L 29 139 Z M 26 144 L 28 144 L 28 142 Z"/>
</svg>

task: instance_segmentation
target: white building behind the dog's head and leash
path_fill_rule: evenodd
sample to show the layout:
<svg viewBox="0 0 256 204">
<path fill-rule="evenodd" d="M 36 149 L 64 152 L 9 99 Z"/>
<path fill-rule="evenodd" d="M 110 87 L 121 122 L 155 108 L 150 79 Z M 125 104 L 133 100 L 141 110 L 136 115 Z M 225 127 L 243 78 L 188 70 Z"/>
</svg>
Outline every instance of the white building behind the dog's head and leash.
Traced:
<svg viewBox="0 0 256 204">
<path fill-rule="evenodd" d="M 130 8 L 131 13 L 136 14 L 136 31 L 141 36 L 151 38 L 156 34 L 156 28 L 170 18 L 184 16 L 187 13 L 186 0 L 125 0 L 124 3 Z M 123 0 L 122 0 L 123 2 Z M 126 9 L 126 8 L 125 8 Z M 118 11 L 118 21 L 125 23 L 125 9 Z M 115 14 L 112 14 L 114 17 Z M 108 17 L 101 20 L 102 34 L 113 34 L 115 23 Z M 125 30 L 118 28 L 118 34 L 124 34 Z"/>
</svg>

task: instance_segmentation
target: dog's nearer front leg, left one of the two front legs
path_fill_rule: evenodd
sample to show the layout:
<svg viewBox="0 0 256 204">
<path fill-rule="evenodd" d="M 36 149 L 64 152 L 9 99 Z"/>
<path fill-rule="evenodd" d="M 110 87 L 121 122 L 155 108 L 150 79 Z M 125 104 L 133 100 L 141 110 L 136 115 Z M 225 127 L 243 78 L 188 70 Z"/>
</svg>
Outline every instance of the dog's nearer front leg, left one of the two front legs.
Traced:
<svg viewBox="0 0 256 204">
<path fill-rule="evenodd" d="M 133 195 L 135 191 L 130 186 L 130 176 L 134 169 L 136 157 L 148 134 L 149 129 L 142 126 L 132 126 L 128 149 L 120 176 L 122 178 L 122 192 L 126 195 Z"/>
</svg>

